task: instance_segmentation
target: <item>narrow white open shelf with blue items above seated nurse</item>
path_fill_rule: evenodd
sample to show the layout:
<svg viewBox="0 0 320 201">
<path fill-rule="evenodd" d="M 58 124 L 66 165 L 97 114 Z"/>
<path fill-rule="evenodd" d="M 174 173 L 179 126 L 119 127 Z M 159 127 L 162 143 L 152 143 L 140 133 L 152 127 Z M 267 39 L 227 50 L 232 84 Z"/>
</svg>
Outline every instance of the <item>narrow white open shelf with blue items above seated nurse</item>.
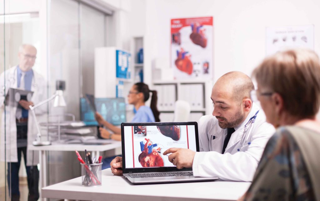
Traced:
<svg viewBox="0 0 320 201">
<path fill-rule="evenodd" d="M 143 49 L 143 36 L 135 36 L 131 39 L 131 56 L 132 56 L 132 63 L 133 63 L 133 69 L 132 69 L 132 79 L 134 83 L 140 82 L 140 75 L 139 72 L 142 70 L 144 71 L 143 63 L 138 63 L 138 52 L 140 49 Z M 144 73 L 143 73 L 144 74 Z"/>
</svg>

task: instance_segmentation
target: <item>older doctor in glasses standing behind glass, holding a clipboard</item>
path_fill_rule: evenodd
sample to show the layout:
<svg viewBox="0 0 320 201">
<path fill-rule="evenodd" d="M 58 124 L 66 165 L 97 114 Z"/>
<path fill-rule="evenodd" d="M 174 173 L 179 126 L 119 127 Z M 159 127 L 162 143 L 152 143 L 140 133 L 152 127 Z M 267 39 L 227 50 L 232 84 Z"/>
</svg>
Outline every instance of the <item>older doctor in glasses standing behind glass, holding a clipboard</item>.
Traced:
<svg viewBox="0 0 320 201">
<path fill-rule="evenodd" d="M 19 65 L 8 69 L 0 75 L 0 107 L 3 109 L 1 123 L 1 160 L 8 162 L 8 184 L 11 191 L 11 199 L 19 200 L 19 168 L 21 153 L 24 155 L 25 166 L 28 176 L 28 200 L 38 200 L 39 170 L 37 163 L 38 152 L 28 151 L 28 145 L 36 138 L 36 122 L 30 114 L 29 106 L 37 104 L 45 99 L 46 84 L 44 78 L 32 67 L 36 60 L 37 50 L 32 45 L 21 45 L 19 48 Z M 31 101 L 20 100 L 20 107 L 5 105 L 5 94 L 9 88 L 22 88 L 33 91 Z M 44 114 L 45 108 L 37 108 L 36 114 Z M 5 117 L 5 118 L 4 118 Z M 4 138 L 4 129 L 6 138 Z M 5 139 L 5 140 L 4 140 Z M 6 145 L 6 156 L 4 156 Z"/>
</svg>

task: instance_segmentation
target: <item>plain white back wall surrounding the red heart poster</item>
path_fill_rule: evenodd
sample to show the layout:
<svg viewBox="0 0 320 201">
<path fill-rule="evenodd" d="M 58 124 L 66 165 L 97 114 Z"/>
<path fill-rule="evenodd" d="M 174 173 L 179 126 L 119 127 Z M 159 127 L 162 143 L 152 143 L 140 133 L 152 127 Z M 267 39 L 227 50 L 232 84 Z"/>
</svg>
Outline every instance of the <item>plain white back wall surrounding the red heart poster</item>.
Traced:
<svg viewBox="0 0 320 201">
<path fill-rule="evenodd" d="M 214 80 L 228 71 L 251 75 L 265 56 L 265 27 L 315 25 L 315 50 L 320 44 L 320 1 L 315 0 L 148 0 L 144 58 L 147 69 L 155 58 L 168 58 L 170 19 L 213 16 Z M 150 68 L 149 68 L 150 67 Z M 151 83 L 151 70 L 145 71 Z"/>
</svg>

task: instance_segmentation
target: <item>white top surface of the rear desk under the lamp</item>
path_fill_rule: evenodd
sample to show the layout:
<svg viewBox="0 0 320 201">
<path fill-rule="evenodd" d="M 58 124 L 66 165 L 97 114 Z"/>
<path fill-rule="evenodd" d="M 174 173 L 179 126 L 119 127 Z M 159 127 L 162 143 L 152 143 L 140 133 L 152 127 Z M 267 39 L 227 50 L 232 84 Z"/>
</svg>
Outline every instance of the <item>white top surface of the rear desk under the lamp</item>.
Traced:
<svg viewBox="0 0 320 201">
<path fill-rule="evenodd" d="M 29 150 L 35 151 L 106 151 L 121 147 L 121 141 L 111 140 L 111 144 L 107 145 L 84 145 L 84 144 L 52 144 L 47 146 L 28 145 Z"/>
</svg>

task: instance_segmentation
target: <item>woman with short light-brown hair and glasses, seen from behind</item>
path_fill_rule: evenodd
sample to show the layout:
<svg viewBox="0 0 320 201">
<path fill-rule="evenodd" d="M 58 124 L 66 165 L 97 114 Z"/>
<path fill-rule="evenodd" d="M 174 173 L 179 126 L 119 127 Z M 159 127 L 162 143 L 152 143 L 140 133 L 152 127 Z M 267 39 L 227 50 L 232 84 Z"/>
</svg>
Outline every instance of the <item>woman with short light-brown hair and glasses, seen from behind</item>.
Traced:
<svg viewBox="0 0 320 201">
<path fill-rule="evenodd" d="M 266 58 L 253 72 L 253 91 L 277 130 L 265 147 L 243 200 L 320 200 L 319 57 L 287 50 Z"/>
</svg>

